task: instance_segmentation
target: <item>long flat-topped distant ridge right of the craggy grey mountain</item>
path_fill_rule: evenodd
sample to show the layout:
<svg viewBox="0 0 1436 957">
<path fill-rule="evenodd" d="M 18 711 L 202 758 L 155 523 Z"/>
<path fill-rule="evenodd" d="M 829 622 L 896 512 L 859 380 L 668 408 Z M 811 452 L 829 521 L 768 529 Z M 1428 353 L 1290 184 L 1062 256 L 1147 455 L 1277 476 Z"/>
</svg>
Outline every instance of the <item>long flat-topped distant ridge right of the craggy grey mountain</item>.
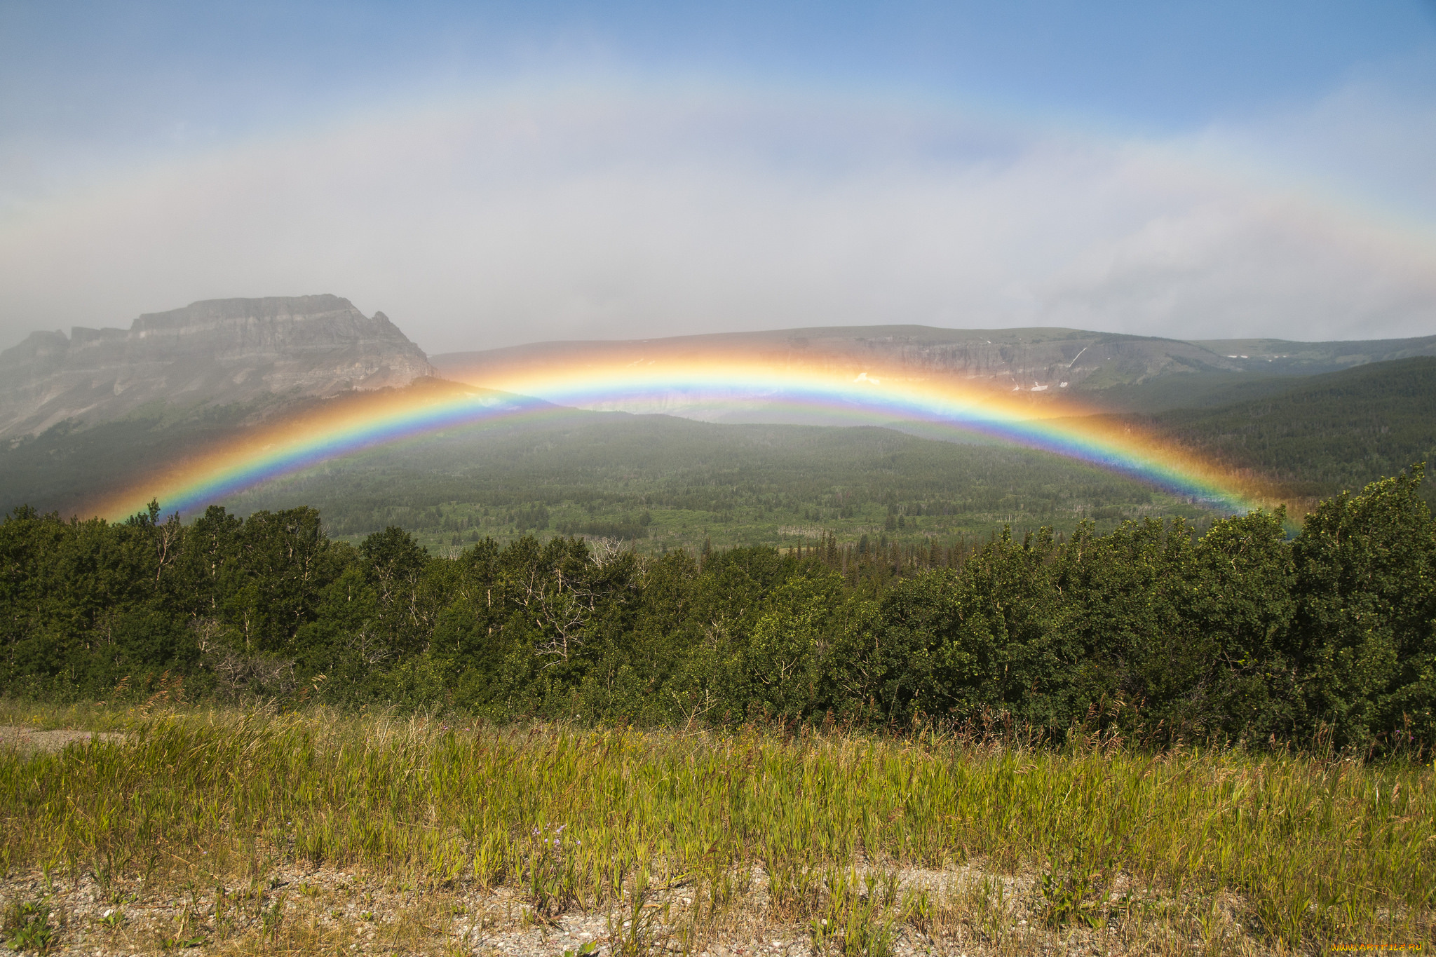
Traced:
<svg viewBox="0 0 1436 957">
<path fill-rule="evenodd" d="M 933 329 L 869 326 L 781 329 L 642 340 L 549 341 L 434 356 L 447 379 L 487 385 L 498 372 L 541 366 L 682 364 L 718 357 L 777 369 L 856 376 L 948 377 L 1034 402 L 1073 396 L 1110 412 L 1225 405 L 1290 389 L 1301 376 L 1409 356 L 1436 356 L 1436 336 L 1374 341 L 1295 343 L 1277 339 L 1176 340 L 1077 329 Z M 622 406 L 724 419 L 655 396 Z M 752 410 L 738 416 L 748 420 Z M 731 415 L 727 418 L 732 418 Z"/>
</svg>

